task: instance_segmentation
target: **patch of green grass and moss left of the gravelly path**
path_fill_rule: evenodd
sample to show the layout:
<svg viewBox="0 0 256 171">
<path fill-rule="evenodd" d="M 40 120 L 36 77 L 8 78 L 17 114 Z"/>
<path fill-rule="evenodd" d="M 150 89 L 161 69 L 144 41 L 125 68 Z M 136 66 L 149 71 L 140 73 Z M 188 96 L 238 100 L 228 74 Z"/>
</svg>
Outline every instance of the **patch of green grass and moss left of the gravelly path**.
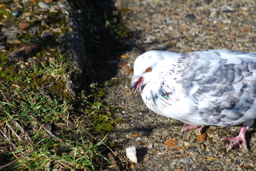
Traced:
<svg viewBox="0 0 256 171">
<path fill-rule="evenodd" d="M 28 3 L 33 8 L 38 2 Z M 99 2 L 91 3 L 97 6 Z M 5 4 L 8 3 L 12 2 L 7 1 Z M 1 14 L 5 14 L 7 19 L 3 22 L 19 23 L 19 18 L 12 16 L 5 8 L 0 8 L 0 19 L 3 19 Z M 59 55 L 52 48 L 55 45 L 52 40 L 46 41 L 38 38 L 39 35 L 22 33 L 18 37 L 21 43 L 33 42 L 38 47 L 25 60 L 18 62 L 10 61 L 8 56 L 8 52 L 14 51 L 14 44 L 7 44 L 8 51 L 1 54 L 0 149 L 3 157 L 0 157 L 0 164 L 3 166 L 23 156 L 4 169 L 113 170 L 107 153 L 115 151 L 118 146 L 108 134 L 122 120 L 116 119 L 117 108 L 106 104 L 104 95 L 106 86 L 119 82 L 98 70 L 103 68 L 108 71 L 104 68 L 109 60 L 105 54 L 127 38 L 129 33 L 118 22 L 119 12 L 115 11 L 113 15 L 112 9 L 100 8 L 103 8 L 98 9 L 101 13 L 83 10 L 88 33 L 85 41 L 88 60 L 83 73 L 86 82 L 82 82 L 84 86 L 77 90 L 75 100 L 68 94 L 65 84 L 68 74 L 76 71 L 70 70 L 71 63 L 65 55 Z M 26 10 L 28 5 L 23 12 Z M 65 33 L 67 23 L 54 20 L 60 13 L 49 14 L 47 24 L 63 27 L 61 33 Z M 34 15 L 39 15 L 39 12 L 33 10 L 31 16 Z M 40 21 L 30 24 L 40 25 Z M 54 34 L 54 37 L 61 33 Z M 100 40 L 95 37 L 96 34 L 100 35 Z M 48 55 L 52 60 L 45 60 Z M 27 61 L 32 57 L 36 57 L 37 62 Z M 24 62 L 28 62 L 28 65 Z M 51 82 L 54 82 L 52 87 L 45 89 L 44 86 Z M 31 153 L 24 156 L 28 152 Z M 118 162 L 121 163 L 121 159 Z"/>
</svg>

